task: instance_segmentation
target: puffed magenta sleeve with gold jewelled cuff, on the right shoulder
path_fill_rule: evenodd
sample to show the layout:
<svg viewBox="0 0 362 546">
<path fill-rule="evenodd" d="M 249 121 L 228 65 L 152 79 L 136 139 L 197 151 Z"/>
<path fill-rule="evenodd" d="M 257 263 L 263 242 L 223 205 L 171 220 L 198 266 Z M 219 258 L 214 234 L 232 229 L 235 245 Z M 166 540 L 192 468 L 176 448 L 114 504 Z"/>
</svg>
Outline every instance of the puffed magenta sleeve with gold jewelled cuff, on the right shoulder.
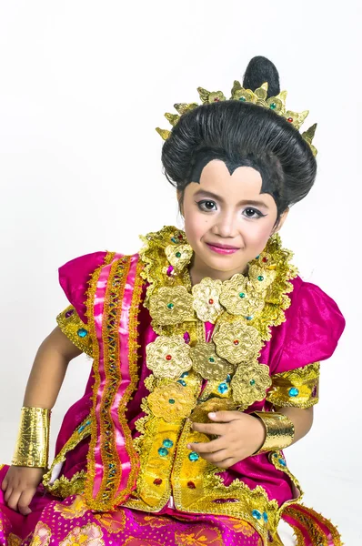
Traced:
<svg viewBox="0 0 362 546">
<path fill-rule="evenodd" d="M 276 407 L 308 408 L 318 401 L 320 361 L 337 348 L 345 319 L 332 298 L 303 281 L 286 318 L 283 348 L 271 367 L 266 399 Z"/>
</svg>

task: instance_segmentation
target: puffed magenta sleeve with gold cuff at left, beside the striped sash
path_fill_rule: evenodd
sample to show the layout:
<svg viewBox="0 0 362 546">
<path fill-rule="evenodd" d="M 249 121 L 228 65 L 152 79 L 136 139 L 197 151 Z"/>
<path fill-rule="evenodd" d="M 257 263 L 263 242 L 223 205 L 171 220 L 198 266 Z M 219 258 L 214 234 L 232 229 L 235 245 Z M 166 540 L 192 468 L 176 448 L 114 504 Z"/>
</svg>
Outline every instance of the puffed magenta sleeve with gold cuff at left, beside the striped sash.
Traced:
<svg viewBox="0 0 362 546">
<path fill-rule="evenodd" d="M 105 263 L 106 252 L 93 252 L 74 258 L 58 269 L 59 284 L 70 305 L 56 317 L 56 322 L 65 336 L 75 346 L 93 356 L 92 339 L 86 328 L 86 290 L 92 273 Z"/>
</svg>

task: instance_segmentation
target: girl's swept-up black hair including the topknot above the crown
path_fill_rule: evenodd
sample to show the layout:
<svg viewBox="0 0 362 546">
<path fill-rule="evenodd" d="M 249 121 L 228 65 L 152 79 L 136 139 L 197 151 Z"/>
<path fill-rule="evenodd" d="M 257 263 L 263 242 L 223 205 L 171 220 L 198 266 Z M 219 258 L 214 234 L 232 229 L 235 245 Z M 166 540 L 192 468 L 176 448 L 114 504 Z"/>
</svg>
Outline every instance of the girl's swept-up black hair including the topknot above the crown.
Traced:
<svg viewBox="0 0 362 546">
<path fill-rule="evenodd" d="M 251 59 L 243 87 L 255 91 L 268 83 L 269 96 L 280 92 L 276 66 L 264 56 Z M 307 196 L 317 175 L 312 150 L 296 127 L 272 109 L 238 100 L 196 106 L 172 128 L 162 148 L 167 180 L 183 197 L 190 182 L 200 182 L 212 159 L 236 167 L 254 167 L 262 177 L 261 193 L 270 194 L 280 215 Z"/>
</svg>

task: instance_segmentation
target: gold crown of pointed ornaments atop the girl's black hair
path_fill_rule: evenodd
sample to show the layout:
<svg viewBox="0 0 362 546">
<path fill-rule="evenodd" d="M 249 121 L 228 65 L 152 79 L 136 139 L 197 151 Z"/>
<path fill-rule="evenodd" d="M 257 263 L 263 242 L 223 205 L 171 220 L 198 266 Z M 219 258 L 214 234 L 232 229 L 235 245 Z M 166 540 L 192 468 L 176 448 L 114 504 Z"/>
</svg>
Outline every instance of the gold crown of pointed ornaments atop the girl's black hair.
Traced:
<svg viewBox="0 0 362 546">
<path fill-rule="evenodd" d="M 229 100 L 241 100 L 243 102 L 254 103 L 257 106 L 263 106 L 264 108 L 270 108 L 279 116 L 285 117 L 287 121 L 292 124 L 292 126 L 295 126 L 296 129 L 299 130 L 300 126 L 303 125 L 304 120 L 309 114 L 309 110 L 304 110 L 300 114 L 298 114 L 297 112 L 292 112 L 292 110 L 287 110 L 287 91 L 281 91 L 277 96 L 270 96 L 269 98 L 266 98 L 267 87 L 268 84 L 266 82 L 261 87 L 258 87 L 255 91 L 252 91 L 251 89 L 244 89 L 244 87 L 241 86 L 240 82 L 235 81 L 234 86 L 231 89 L 231 97 Z M 206 91 L 206 89 L 204 89 L 203 87 L 197 87 L 197 91 L 203 105 L 226 100 L 226 96 L 222 91 Z M 197 103 L 178 103 L 174 105 L 174 107 L 176 108 L 179 116 L 177 114 L 169 114 L 168 112 L 166 112 L 166 119 L 170 122 L 172 126 L 176 126 L 176 123 L 180 119 L 180 116 L 182 116 L 183 114 L 185 114 L 185 112 L 188 112 L 189 110 L 193 110 L 194 108 L 196 108 L 196 106 L 199 105 Z M 312 145 L 312 140 L 316 134 L 316 127 L 317 123 L 310 126 L 307 131 L 302 133 L 302 137 L 306 140 L 315 157 L 317 156 L 317 148 Z M 160 129 L 159 127 L 156 127 L 156 131 L 159 135 L 162 136 L 164 140 L 166 140 L 168 136 L 171 135 L 171 131 L 168 131 L 167 129 Z"/>
</svg>

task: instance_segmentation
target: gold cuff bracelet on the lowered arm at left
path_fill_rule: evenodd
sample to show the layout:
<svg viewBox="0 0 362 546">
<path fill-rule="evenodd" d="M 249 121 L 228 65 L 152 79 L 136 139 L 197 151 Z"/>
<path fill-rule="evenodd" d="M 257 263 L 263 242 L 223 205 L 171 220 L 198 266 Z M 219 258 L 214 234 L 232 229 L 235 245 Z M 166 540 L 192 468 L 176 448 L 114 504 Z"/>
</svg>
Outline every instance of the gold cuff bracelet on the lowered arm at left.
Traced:
<svg viewBox="0 0 362 546">
<path fill-rule="evenodd" d="M 22 408 L 12 460 L 14 466 L 46 468 L 49 454 L 50 410 Z"/>
</svg>

